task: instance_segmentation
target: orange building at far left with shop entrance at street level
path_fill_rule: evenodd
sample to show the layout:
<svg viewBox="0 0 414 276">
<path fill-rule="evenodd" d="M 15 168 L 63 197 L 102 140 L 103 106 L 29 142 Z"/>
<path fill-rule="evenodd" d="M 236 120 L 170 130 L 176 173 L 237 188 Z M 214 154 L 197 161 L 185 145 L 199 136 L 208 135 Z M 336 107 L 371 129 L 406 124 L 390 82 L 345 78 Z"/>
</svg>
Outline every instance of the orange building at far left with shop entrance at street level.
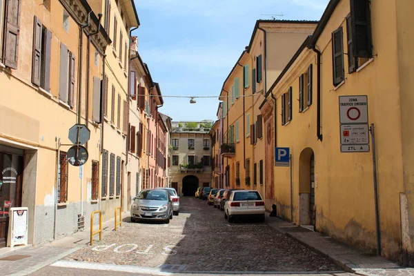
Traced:
<svg viewBox="0 0 414 276">
<path fill-rule="evenodd" d="M 28 207 L 28 242 L 41 244 L 88 227 L 83 218 L 99 208 L 101 79 L 111 41 L 86 1 L 0 7 L 0 22 L 8 21 L 0 26 L 0 247 L 10 235 L 7 201 Z M 77 123 L 90 130 L 80 167 L 68 164 L 68 130 Z"/>
</svg>

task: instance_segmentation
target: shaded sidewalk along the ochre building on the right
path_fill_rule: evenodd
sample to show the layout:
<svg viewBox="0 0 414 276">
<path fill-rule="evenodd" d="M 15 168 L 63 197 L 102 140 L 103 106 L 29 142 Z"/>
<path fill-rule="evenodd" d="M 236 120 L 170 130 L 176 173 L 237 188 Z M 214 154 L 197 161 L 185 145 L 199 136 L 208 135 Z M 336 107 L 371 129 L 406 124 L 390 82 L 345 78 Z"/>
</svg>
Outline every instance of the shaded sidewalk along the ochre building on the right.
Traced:
<svg viewBox="0 0 414 276">
<path fill-rule="evenodd" d="M 266 222 L 280 233 L 296 239 L 298 242 L 330 258 L 340 268 L 362 275 L 390 275 L 404 272 L 414 275 L 414 268 L 402 268 L 384 257 L 377 257 L 369 252 L 353 248 L 335 239 L 297 226 L 279 217 L 269 217 L 266 212 Z M 398 270 L 399 272 L 397 272 Z M 404 274 L 405 275 L 405 274 Z"/>
</svg>

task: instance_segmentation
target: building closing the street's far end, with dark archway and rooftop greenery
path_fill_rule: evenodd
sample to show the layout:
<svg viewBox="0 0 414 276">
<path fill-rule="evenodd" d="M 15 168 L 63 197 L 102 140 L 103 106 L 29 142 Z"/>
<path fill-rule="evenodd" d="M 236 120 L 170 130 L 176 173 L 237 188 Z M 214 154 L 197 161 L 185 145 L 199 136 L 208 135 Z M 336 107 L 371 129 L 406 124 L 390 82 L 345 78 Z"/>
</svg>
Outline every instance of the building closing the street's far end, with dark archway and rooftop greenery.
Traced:
<svg viewBox="0 0 414 276">
<path fill-rule="evenodd" d="M 170 187 L 194 196 L 198 187 L 212 185 L 209 121 L 172 121 Z"/>
</svg>

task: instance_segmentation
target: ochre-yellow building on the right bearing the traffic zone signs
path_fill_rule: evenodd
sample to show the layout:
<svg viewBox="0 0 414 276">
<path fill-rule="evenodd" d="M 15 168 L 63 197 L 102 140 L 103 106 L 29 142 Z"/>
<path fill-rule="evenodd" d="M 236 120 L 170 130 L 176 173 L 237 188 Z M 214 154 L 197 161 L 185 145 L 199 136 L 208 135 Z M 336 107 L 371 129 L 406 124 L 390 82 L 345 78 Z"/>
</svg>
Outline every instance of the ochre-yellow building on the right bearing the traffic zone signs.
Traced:
<svg viewBox="0 0 414 276">
<path fill-rule="evenodd" d="M 266 152 L 291 155 L 290 166 L 273 167 L 278 215 L 408 264 L 413 6 L 331 0 L 261 106 L 275 122 L 264 127 L 274 137 Z"/>
</svg>

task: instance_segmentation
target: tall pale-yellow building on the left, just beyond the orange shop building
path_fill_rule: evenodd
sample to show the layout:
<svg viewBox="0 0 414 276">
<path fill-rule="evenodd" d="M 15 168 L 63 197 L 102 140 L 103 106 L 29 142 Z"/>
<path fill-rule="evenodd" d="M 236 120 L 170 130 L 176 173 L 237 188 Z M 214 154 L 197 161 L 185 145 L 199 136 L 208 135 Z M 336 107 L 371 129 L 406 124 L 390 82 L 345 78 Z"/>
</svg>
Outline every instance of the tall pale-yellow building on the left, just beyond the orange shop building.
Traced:
<svg viewBox="0 0 414 276">
<path fill-rule="evenodd" d="M 128 73 L 130 54 L 130 32 L 138 28 L 139 19 L 134 1 L 119 3 L 115 0 L 88 1 L 96 14 L 103 14 L 103 26 L 112 43 L 106 48 L 103 61 L 103 137 L 101 186 L 99 206 L 103 219 L 114 215 L 121 207 L 130 204 L 127 187 L 127 134 L 128 134 Z M 132 29 L 131 29 L 132 28 Z M 134 185 L 135 186 L 135 185 Z"/>
</svg>

